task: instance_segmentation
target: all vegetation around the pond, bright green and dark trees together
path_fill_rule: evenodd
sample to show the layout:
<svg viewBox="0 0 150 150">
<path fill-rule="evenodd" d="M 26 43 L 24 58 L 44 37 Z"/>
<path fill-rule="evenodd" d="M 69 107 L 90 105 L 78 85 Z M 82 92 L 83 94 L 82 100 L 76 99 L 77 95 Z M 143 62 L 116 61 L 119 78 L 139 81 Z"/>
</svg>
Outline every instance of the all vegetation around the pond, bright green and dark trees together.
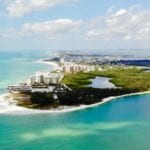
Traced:
<svg viewBox="0 0 150 150">
<path fill-rule="evenodd" d="M 86 87 L 90 84 L 90 79 L 96 76 L 111 78 L 117 87 L 115 89 L 96 89 Z M 73 90 L 58 92 L 57 100 L 52 93 L 28 93 L 28 101 L 19 101 L 19 105 L 29 108 L 49 109 L 61 105 L 93 104 L 102 101 L 103 98 L 119 96 L 129 93 L 150 90 L 150 73 L 138 68 L 113 68 L 105 71 L 92 71 L 88 73 L 66 74 L 62 83 L 68 85 Z"/>
</svg>

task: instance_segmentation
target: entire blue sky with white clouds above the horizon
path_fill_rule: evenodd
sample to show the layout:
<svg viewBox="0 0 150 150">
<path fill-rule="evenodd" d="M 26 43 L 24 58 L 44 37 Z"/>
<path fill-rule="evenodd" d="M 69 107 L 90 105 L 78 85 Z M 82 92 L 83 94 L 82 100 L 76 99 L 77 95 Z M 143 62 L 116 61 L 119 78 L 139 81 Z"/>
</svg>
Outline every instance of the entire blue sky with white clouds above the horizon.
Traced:
<svg viewBox="0 0 150 150">
<path fill-rule="evenodd" d="M 148 0 L 1 0 L 0 51 L 150 48 Z"/>
</svg>

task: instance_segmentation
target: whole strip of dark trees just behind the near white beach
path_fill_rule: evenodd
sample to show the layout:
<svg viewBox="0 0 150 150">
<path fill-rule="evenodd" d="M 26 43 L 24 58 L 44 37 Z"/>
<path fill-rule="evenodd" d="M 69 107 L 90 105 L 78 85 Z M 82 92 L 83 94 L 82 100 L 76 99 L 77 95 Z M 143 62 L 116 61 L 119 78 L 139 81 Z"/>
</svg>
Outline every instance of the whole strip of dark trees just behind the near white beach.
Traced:
<svg viewBox="0 0 150 150">
<path fill-rule="evenodd" d="M 95 88 L 74 88 L 73 91 L 58 93 L 58 99 L 54 99 L 51 93 L 28 93 L 29 101 L 19 101 L 18 105 L 28 108 L 49 109 L 58 106 L 90 105 L 102 101 L 109 96 L 119 96 L 137 92 L 131 89 L 95 89 Z"/>
</svg>

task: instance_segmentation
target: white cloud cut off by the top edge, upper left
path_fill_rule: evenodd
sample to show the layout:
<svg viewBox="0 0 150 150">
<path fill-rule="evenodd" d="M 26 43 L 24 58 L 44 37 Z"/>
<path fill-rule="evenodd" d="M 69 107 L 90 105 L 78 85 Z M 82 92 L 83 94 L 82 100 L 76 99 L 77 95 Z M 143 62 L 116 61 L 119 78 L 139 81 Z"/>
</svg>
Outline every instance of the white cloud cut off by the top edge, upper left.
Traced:
<svg viewBox="0 0 150 150">
<path fill-rule="evenodd" d="M 14 0 L 8 7 L 9 16 L 22 17 L 32 11 L 48 9 L 72 0 Z"/>
</svg>

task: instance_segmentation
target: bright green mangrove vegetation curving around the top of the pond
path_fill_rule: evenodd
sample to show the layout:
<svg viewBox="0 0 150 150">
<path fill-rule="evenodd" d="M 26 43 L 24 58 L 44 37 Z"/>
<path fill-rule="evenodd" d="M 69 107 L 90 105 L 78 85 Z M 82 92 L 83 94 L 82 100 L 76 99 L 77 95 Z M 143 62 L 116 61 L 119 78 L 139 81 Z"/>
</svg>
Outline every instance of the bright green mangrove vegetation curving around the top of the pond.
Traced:
<svg viewBox="0 0 150 150">
<path fill-rule="evenodd" d="M 90 84 L 90 79 L 95 76 L 112 78 L 110 81 L 118 87 L 138 89 L 146 91 L 150 89 L 150 73 L 143 72 L 138 68 L 113 68 L 105 71 L 93 71 L 89 73 L 68 74 L 62 80 L 66 85 L 74 87 L 85 87 Z"/>
</svg>

